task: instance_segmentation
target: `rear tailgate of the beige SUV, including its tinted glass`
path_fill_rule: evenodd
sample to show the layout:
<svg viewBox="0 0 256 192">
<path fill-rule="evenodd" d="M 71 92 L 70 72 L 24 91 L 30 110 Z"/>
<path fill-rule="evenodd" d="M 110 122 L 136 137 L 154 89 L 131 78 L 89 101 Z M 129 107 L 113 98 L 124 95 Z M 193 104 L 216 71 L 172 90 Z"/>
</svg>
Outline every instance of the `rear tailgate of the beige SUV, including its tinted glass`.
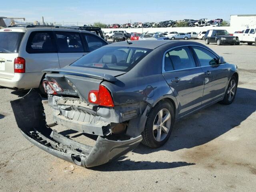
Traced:
<svg viewBox="0 0 256 192">
<path fill-rule="evenodd" d="M 14 59 L 19 56 L 18 51 L 24 32 L 0 30 L 0 78 L 11 79 L 14 76 Z"/>
</svg>

